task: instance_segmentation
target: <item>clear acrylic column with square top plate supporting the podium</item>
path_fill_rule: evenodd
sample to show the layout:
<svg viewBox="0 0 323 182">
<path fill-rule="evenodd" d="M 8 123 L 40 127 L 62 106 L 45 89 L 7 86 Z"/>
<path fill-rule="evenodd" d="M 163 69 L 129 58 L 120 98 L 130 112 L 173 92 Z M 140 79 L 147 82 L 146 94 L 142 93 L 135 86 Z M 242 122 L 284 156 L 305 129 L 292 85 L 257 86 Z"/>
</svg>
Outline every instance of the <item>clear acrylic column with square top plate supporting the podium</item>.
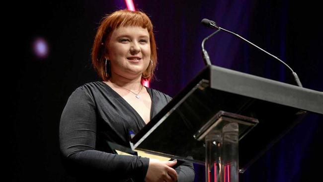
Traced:
<svg viewBox="0 0 323 182">
<path fill-rule="evenodd" d="M 195 135 L 205 141 L 206 182 L 239 182 L 239 140 L 257 119 L 219 111 Z"/>
</svg>

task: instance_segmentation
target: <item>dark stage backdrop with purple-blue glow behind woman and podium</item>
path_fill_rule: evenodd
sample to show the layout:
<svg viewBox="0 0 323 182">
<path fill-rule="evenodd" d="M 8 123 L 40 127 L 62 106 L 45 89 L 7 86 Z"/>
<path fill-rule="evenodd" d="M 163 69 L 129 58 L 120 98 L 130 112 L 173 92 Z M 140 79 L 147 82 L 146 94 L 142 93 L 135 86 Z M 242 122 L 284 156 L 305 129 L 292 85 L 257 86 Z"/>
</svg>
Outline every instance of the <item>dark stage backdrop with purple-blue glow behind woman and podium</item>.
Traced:
<svg viewBox="0 0 323 182">
<path fill-rule="evenodd" d="M 158 81 L 152 88 L 175 96 L 203 68 L 201 41 L 213 30 L 209 18 L 286 61 L 305 88 L 323 91 L 322 6 L 286 0 L 134 0 L 151 16 L 158 45 Z M 9 181 L 74 181 L 60 161 L 58 128 L 69 95 L 98 80 L 90 49 L 101 17 L 125 8 L 123 0 L 14 2 L 7 27 L 12 63 L 9 81 Z M 5 8 L 5 7 L 3 7 Z M 35 56 L 37 37 L 49 45 Z M 225 32 L 205 45 L 212 63 L 252 75 L 295 84 L 278 61 Z M 8 69 L 9 69 L 8 68 Z M 3 67 L 7 69 L 7 67 Z M 5 70 L 4 70 L 5 71 Z M 11 89 L 13 88 L 13 89 Z M 265 108 L 264 108 L 265 109 Z M 4 113 L 6 114 L 6 113 Z M 322 177 L 322 116 L 311 114 L 244 174 L 241 182 L 309 182 Z M 259 137 L 261 139 L 261 136 Z M 195 166 L 196 182 L 204 169 Z M 108 177 L 107 177 L 108 179 Z"/>
</svg>

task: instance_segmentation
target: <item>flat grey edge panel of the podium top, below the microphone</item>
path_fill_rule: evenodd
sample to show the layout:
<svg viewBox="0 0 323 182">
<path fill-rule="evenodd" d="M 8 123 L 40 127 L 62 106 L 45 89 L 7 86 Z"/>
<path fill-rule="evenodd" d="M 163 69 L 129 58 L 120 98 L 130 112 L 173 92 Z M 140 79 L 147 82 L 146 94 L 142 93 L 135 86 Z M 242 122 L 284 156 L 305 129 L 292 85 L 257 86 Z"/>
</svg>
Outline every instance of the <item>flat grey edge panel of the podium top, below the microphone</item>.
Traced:
<svg viewBox="0 0 323 182">
<path fill-rule="evenodd" d="M 323 92 L 217 66 L 210 67 L 211 88 L 323 114 Z"/>
</svg>

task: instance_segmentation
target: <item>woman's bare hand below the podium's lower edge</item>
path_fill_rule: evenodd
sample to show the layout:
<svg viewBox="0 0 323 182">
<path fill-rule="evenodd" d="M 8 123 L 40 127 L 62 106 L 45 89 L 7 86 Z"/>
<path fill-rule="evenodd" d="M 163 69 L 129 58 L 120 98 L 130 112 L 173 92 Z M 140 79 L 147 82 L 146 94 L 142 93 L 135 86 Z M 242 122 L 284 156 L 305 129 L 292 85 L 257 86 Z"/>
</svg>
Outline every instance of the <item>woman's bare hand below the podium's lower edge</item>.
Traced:
<svg viewBox="0 0 323 182">
<path fill-rule="evenodd" d="M 150 159 L 145 182 L 177 182 L 177 173 L 171 168 L 176 163 Z"/>
</svg>

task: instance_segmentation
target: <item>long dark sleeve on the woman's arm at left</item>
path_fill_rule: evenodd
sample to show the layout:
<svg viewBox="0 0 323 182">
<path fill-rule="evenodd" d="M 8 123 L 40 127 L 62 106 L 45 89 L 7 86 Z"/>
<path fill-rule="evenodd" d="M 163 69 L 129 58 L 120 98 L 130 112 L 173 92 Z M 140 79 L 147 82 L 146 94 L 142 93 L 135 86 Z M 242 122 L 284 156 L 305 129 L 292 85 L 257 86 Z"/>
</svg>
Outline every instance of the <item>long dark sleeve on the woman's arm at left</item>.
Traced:
<svg viewBox="0 0 323 182">
<path fill-rule="evenodd" d="M 60 150 L 68 168 L 77 176 L 95 171 L 106 179 L 136 178 L 143 181 L 149 159 L 95 150 L 96 113 L 93 97 L 85 87 L 74 91 L 63 110 L 60 122 Z"/>
</svg>

